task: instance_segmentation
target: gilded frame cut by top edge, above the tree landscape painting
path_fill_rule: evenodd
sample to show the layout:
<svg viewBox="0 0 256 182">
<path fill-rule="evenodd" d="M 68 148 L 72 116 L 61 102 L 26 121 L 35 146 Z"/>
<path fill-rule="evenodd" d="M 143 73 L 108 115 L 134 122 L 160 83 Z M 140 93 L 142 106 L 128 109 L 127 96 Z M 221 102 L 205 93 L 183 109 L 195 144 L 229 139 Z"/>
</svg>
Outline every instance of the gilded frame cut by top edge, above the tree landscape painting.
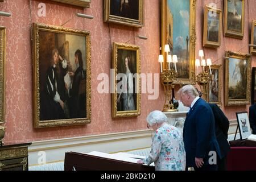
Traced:
<svg viewBox="0 0 256 182">
<path fill-rule="evenodd" d="M 228 30 L 228 0 L 224 0 L 224 31 L 225 36 L 229 36 L 232 38 L 243 39 L 244 29 L 245 29 L 245 1 L 240 0 L 242 2 L 242 22 L 241 22 L 241 32 Z"/>
</svg>

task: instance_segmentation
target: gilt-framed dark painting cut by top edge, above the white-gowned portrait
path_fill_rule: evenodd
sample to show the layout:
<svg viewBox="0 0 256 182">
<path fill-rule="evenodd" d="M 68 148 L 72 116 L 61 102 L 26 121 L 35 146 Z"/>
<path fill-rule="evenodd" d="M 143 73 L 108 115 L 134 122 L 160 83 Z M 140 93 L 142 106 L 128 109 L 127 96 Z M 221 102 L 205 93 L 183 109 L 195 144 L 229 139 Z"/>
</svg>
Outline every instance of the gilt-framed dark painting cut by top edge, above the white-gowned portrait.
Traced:
<svg viewBox="0 0 256 182">
<path fill-rule="evenodd" d="M 144 27 L 144 0 L 104 0 L 104 22 Z"/>
</svg>

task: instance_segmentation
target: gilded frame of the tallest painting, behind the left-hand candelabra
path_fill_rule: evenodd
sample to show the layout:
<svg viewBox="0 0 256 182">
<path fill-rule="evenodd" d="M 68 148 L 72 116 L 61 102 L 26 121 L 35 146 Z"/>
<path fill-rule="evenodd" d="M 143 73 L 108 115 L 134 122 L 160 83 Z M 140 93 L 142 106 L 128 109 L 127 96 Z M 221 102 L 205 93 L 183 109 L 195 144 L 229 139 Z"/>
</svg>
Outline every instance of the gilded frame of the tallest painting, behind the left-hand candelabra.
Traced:
<svg viewBox="0 0 256 182">
<path fill-rule="evenodd" d="M 174 81 L 174 84 L 195 84 L 195 51 L 196 51 L 196 0 L 190 0 L 189 7 L 189 77 L 179 78 Z M 164 56 L 163 69 L 167 68 L 166 53 L 164 45 L 167 44 L 167 0 L 162 0 L 162 55 Z M 179 57 L 179 56 L 178 56 Z M 179 61 L 179 60 L 178 60 Z"/>
</svg>

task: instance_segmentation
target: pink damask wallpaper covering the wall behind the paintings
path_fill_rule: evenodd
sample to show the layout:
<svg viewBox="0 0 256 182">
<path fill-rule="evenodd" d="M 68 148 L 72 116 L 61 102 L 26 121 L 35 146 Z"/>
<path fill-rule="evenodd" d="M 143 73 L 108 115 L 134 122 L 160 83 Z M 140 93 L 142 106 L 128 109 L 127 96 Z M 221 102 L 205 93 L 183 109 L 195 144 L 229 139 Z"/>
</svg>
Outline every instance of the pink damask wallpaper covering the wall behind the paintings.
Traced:
<svg viewBox="0 0 256 182">
<path fill-rule="evenodd" d="M 204 5 L 218 0 L 196 1 L 196 55 L 202 49 Z M 40 3 L 46 5 L 46 16 L 39 17 Z M 250 5 L 249 5 L 250 3 Z M 249 52 L 249 24 L 256 19 L 255 1 L 245 1 L 245 37 L 242 40 L 222 37 L 218 49 L 204 48 L 205 56 L 224 64 L 225 51 Z M 160 46 L 160 0 L 144 1 L 144 27 L 133 28 L 103 22 L 104 4 L 92 0 L 89 9 L 82 9 L 49 0 L 8 0 L 0 3 L 0 11 L 10 12 L 10 17 L 0 17 L 0 26 L 7 28 L 6 35 L 6 135 L 5 142 L 28 142 L 83 135 L 116 133 L 146 129 L 146 117 L 150 111 L 161 110 L 164 102 L 163 88 L 159 84 L 159 99 L 148 100 L 142 94 L 141 115 L 137 118 L 113 119 L 111 116 L 111 95 L 97 92 L 100 73 L 110 75 L 112 63 L 112 42 L 137 44 L 141 47 L 141 72 L 159 73 L 158 54 Z M 76 13 L 93 15 L 94 19 L 79 18 Z M 77 28 L 91 32 L 92 48 L 92 122 L 88 125 L 33 128 L 32 111 L 32 40 L 33 22 L 55 26 Z M 146 36 L 147 40 L 134 38 Z M 225 40 L 225 43 L 224 43 Z M 255 56 L 252 66 L 255 67 Z M 224 78 L 224 77 L 223 77 Z M 222 102 L 224 102 L 222 89 Z M 229 119 L 236 119 L 236 111 L 247 110 L 248 106 L 222 107 Z"/>
</svg>

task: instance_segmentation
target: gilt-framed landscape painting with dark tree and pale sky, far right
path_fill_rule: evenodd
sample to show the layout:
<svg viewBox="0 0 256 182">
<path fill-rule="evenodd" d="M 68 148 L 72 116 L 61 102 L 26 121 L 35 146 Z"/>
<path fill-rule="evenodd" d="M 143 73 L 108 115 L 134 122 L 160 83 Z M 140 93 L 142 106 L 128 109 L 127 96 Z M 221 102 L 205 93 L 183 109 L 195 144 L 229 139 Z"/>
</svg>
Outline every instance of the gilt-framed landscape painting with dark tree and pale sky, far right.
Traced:
<svg viewBox="0 0 256 182">
<path fill-rule="evenodd" d="M 225 106 L 250 104 L 251 56 L 226 52 Z"/>
</svg>

